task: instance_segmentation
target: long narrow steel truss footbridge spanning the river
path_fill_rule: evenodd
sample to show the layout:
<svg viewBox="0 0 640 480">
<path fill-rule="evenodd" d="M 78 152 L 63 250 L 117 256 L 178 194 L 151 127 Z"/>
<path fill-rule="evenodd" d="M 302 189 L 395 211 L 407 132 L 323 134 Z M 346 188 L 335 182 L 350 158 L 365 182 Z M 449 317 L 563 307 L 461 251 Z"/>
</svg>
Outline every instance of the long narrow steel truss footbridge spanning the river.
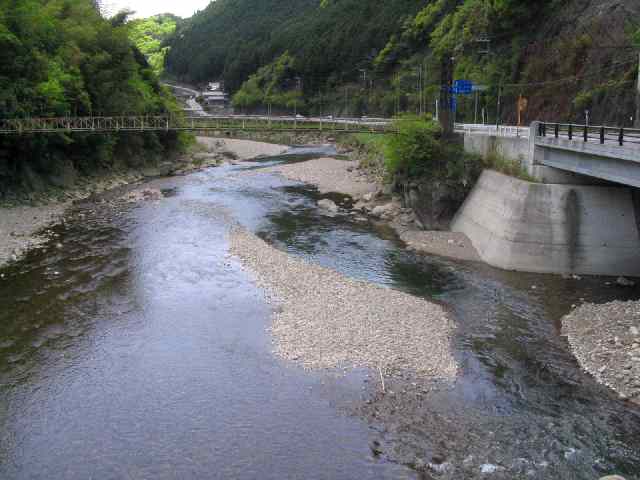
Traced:
<svg viewBox="0 0 640 480">
<path fill-rule="evenodd" d="M 113 116 L 0 119 L 0 135 L 110 132 L 327 132 L 394 133 L 387 119 L 328 119 L 259 116 Z"/>
</svg>

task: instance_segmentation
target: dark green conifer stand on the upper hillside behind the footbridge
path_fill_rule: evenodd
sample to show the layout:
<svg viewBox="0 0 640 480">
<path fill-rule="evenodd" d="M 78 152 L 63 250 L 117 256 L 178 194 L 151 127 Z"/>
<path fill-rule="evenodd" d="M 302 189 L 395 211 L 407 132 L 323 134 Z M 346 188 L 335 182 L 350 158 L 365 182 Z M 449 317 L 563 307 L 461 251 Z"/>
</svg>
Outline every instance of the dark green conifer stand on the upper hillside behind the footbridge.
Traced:
<svg viewBox="0 0 640 480">
<path fill-rule="evenodd" d="M 180 27 L 168 70 L 203 82 L 222 77 L 235 92 L 288 51 L 309 94 L 357 80 L 377 49 L 423 0 L 217 0 Z"/>
</svg>

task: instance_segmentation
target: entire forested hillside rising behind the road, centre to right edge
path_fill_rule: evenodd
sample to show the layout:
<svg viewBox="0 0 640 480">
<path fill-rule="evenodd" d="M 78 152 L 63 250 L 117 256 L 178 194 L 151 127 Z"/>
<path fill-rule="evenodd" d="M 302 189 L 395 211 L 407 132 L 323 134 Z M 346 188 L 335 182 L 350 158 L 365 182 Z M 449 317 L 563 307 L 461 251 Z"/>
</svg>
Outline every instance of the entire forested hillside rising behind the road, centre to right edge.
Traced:
<svg viewBox="0 0 640 480">
<path fill-rule="evenodd" d="M 309 112 L 392 115 L 432 112 L 453 58 L 485 87 L 477 109 L 458 98 L 460 120 L 515 122 L 520 101 L 523 123 L 629 124 L 639 23 L 637 0 L 217 0 L 178 29 L 167 68 L 224 79 L 242 108 L 300 90 Z"/>
</svg>

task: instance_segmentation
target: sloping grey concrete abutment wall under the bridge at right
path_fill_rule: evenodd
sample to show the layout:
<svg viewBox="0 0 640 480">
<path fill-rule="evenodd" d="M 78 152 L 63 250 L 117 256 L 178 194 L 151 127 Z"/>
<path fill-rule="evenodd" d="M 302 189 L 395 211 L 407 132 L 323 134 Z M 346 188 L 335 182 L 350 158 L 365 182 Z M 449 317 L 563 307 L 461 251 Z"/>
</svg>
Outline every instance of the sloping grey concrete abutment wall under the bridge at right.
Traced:
<svg viewBox="0 0 640 480">
<path fill-rule="evenodd" d="M 452 222 L 506 270 L 640 276 L 632 189 L 524 182 L 485 171 Z"/>
</svg>

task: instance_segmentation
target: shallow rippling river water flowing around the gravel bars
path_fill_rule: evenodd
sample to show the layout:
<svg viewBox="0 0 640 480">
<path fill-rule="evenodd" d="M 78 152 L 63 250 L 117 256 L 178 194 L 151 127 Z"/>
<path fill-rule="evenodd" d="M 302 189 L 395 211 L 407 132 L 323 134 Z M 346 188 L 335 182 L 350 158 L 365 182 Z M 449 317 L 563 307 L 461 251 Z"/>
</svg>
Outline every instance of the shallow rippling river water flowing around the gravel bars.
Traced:
<svg viewBox="0 0 640 480">
<path fill-rule="evenodd" d="M 80 205 L 0 272 L 0 478 L 638 478 L 640 410 L 580 371 L 558 323 L 638 289 L 416 255 L 383 225 L 323 215 L 313 188 L 238 175 L 300 159 Z M 227 254 L 233 223 L 447 304 L 459 380 L 379 398 L 367 372 L 275 358 L 269 306 Z"/>
</svg>

